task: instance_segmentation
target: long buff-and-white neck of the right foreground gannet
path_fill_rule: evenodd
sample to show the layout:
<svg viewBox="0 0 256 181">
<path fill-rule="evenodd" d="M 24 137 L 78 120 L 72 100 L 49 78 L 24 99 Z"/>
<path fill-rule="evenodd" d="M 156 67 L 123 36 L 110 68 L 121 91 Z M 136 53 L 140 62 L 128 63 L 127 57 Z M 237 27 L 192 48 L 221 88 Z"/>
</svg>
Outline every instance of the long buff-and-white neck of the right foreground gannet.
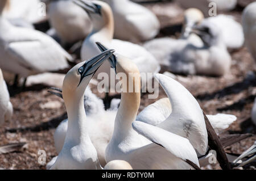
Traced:
<svg viewBox="0 0 256 181">
<path fill-rule="evenodd" d="M 139 110 L 139 104 L 141 103 L 141 77 L 137 66 L 128 58 L 119 55 L 117 57 L 118 73 L 125 73 L 128 79 L 122 81 L 121 103 L 115 117 L 113 132 L 113 137 L 122 141 L 133 129 L 131 123 L 135 121 Z M 129 91 L 129 85 L 133 85 L 133 91 Z M 127 91 L 125 92 L 125 90 Z"/>
</svg>

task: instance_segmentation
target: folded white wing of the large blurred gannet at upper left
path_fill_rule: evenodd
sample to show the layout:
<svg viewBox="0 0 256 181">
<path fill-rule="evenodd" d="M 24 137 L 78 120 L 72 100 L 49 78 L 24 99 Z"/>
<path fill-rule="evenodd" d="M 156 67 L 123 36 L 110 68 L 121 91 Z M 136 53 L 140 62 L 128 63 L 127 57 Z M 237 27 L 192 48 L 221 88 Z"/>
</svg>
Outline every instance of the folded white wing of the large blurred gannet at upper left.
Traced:
<svg viewBox="0 0 256 181">
<path fill-rule="evenodd" d="M 16 30 L 19 37 L 11 37 L 5 47 L 11 61 L 39 72 L 68 68 L 72 57 L 51 37 L 28 28 Z"/>
</svg>

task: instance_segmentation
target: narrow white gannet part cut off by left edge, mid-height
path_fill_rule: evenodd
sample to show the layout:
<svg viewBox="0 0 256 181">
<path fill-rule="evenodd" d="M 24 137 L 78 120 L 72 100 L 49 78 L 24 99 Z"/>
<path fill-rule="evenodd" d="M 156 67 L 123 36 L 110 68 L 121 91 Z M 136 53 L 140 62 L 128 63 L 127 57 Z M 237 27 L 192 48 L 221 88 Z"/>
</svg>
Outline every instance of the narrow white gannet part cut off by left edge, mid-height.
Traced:
<svg viewBox="0 0 256 181">
<path fill-rule="evenodd" d="M 10 102 L 10 95 L 0 69 L 0 124 L 3 124 L 5 120 L 9 120 L 12 115 L 13 104 Z"/>
</svg>

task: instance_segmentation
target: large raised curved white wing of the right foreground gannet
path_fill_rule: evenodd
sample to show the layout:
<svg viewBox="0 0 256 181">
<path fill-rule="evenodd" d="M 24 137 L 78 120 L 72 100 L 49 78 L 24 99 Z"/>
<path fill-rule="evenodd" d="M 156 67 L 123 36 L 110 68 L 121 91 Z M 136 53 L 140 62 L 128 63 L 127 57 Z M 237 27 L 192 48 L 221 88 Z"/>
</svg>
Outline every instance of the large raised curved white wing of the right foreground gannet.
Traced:
<svg viewBox="0 0 256 181">
<path fill-rule="evenodd" d="M 163 74 L 156 74 L 155 78 L 168 95 L 172 106 L 171 115 L 158 127 L 188 138 L 200 154 L 205 154 L 208 134 L 199 103 L 184 86 L 174 79 Z"/>
</svg>

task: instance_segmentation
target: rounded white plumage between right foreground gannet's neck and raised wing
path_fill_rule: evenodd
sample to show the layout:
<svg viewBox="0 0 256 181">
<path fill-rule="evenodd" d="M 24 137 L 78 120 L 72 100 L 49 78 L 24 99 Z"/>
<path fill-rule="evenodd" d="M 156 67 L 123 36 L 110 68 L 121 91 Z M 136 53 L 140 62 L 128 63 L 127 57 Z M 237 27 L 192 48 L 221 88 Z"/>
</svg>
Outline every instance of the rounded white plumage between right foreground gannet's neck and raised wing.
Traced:
<svg viewBox="0 0 256 181">
<path fill-rule="evenodd" d="M 138 114 L 136 120 L 156 126 L 166 120 L 171 112 L 170 100 L 168 98 L 162 98 L 144 108 Z"/>
</svg>

